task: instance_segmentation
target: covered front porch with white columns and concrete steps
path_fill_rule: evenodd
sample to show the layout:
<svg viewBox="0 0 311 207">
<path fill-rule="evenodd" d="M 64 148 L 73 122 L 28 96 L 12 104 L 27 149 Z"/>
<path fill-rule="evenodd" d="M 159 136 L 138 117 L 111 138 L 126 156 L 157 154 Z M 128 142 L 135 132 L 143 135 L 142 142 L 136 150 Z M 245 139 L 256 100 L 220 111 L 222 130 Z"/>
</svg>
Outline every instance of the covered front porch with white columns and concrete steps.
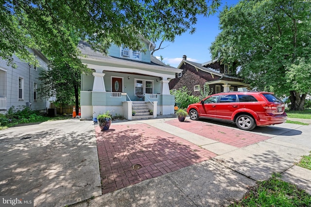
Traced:
<svg viewBox="0 0 311 207">
<path fill-rule="evenodd" d="M 87 66 L 93 69 L 93 73 L 82 75 L 81 118 L 95 118 L 105 111 L 128 120 L 138 115 L 156 118 L 157 114 L 174 113 L 175 99 L 169 90 L 169 79 L 174 78 L 172 72 L 156 71 L 154 65 L 143 69 L 98 64 Z M 144 102 L 145 111 L 139 109 L 133 117 L 133 105 L 138 101 Z M 147 111 L 153 114 L 147 116 Z"/>
</svg>

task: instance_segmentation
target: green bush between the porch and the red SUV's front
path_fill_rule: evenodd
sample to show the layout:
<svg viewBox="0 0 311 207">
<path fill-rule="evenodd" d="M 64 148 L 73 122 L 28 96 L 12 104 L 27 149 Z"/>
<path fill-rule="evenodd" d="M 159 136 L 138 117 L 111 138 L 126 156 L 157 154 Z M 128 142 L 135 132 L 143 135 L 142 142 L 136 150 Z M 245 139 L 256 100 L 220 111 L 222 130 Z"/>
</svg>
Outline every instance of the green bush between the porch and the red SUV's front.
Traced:
<svg viewBox="0 0 311 207">
<path fill-rule="evenodd" d="M 191 92 L 186 86 L 183 86 L 181 89 L 176 90 L 173 95 L 175 96 L 175 102 L 179 103 L 179 108 L 182 109 L 187 108 L 189 104 L 197 103 L 200 101 L 199 97 L 191 95 Z"/>
</svg>

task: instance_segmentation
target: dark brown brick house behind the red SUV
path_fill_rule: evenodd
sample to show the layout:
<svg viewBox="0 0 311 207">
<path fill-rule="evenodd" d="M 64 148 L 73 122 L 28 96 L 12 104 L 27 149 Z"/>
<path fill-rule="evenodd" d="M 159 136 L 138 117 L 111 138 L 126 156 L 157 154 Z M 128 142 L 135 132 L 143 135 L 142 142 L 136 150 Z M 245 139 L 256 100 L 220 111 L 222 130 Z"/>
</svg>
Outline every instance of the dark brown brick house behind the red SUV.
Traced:
<svg viewBox="0 0 311 207">
<path fill-rule="evenodd" d="M 192 95 L 199 96 L 205 84 L 209 86 L 211 94 L 242 91 L 250 87 L 243 79 L 236 77 L 236 69 L 233 69 L 236 68 L 235 64 L 224 64 L 219 60 L 199 64 L 188 61 L 184 55 L 177 68 L 183 71 L 170 81 L 169 86 L 173 91 L 186 86 Z"/>
</svg>

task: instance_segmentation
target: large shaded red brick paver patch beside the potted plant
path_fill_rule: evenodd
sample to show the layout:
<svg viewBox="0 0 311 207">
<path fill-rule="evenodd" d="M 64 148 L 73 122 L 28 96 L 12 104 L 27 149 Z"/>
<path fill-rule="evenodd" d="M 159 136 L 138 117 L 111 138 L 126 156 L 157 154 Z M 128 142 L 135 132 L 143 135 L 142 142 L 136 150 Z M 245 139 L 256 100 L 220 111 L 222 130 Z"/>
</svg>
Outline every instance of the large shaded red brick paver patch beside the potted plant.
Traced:
<svg viewBox="0 0 311 207">
<path fill-rule="evenodd" d="M 103 194 L 217 156 L 147 124 L 95 126 L 95 133 Z"/>
</svg>

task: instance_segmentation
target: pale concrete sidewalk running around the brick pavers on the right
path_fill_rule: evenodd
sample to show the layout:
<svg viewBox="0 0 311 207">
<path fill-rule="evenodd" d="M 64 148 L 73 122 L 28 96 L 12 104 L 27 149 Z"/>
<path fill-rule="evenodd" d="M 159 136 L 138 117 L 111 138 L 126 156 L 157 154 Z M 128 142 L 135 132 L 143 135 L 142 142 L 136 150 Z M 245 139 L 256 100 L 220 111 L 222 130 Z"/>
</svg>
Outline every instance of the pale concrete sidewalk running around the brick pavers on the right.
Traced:
<svg viewBox="0 0 311 207">
<path fill-rule="evenodd" d="M 206 136 L 204 134 L 202 136 L 169 125 L 171 120 L 173 119 L 141 120 L 114 123 L 114 125 L 116 128 L 120 125 L 127 125 L 130 128 L 133 124 L 147 124 L 171 135 L 182 137 L 218 156 L 74 206 L 227 206 L 233 200 L 242 199 L 242 195 L 248 187 L 255 185 L 256 180 L 268 179 L 275 172 L 281 173 L 285 181 L 311 193 L 311 171 L 294 165 L 301 156 L 308 155 L 311 150 L 310 125 L 285 123 L 272 127 L 258 127 L 248 133 L 259 136 L 259 139 L 261 136 L 266 139 L 237 147 L 232 146 L 234 143 L 207 139 L 206 137 L 210 135 L 209 131 L 205 132 Z M 202 124 L 201 121 L 194 123 Z M 208 122 L 203 123 L 214 126 Z M 113 128 L 114 125 L 111 127 Z M 217 127 L 222 128 L 220 133 L 225 133 L 227 129 L 245 133 L 235 127 Z"/>
</svg>

